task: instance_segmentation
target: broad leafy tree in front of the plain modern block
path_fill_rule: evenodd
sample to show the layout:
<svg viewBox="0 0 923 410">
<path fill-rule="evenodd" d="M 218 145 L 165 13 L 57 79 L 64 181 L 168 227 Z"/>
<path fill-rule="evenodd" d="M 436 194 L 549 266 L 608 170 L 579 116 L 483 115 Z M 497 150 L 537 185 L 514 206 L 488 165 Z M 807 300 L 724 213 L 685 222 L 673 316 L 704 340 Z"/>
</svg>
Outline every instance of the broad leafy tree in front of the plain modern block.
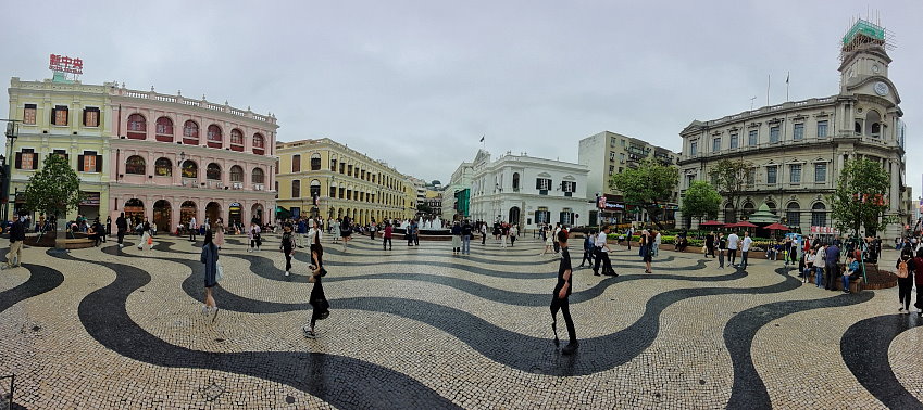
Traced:
<svg viewBox="0 0 923 410">
<path fill-rule="evenodd" d="M 660 203 L 670 201 L 678 180 L 679 170 L 676 167 L 647 158 L 635 169 L 612 175 L 609 187 L 622 191 L 626 203 L 644 207 L 653 223 L 663 229 L 657 219 L 661 212 Z"/>
</svg>

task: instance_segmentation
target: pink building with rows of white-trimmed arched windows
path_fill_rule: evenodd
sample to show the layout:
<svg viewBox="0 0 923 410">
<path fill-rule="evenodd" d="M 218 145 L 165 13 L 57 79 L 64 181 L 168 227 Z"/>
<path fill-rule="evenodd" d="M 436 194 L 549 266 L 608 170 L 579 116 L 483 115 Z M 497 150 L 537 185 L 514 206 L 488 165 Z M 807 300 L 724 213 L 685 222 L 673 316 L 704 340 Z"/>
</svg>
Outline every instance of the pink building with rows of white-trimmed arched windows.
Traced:
<svg viewBox="0 0 923 410">
<path fill-rule="evenodd" d="M 124 85 L 110 88 L 109 209 L 176 231 L 194 216 L 226 226 L 275 212 L 276 118 Z"/>
</svg>

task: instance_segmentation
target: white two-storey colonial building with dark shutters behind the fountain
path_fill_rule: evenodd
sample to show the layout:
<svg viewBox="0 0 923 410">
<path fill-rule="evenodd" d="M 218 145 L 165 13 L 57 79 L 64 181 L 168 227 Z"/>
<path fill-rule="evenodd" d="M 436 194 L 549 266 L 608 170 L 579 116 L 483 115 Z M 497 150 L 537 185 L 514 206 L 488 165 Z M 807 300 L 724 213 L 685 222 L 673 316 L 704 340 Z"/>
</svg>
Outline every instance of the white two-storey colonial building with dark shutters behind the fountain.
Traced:
<svg viewBox="0 0 923 410">
<path fill-rule="evenodd" d="M 586 198 L 589 168 L 585 165 L 506 155 L 490 161 L 477 152 L 471 183 L 471 218 L 519 223 L 536 229 L 541 223 L 584 225 L 593 201 Z"/>
</svg>

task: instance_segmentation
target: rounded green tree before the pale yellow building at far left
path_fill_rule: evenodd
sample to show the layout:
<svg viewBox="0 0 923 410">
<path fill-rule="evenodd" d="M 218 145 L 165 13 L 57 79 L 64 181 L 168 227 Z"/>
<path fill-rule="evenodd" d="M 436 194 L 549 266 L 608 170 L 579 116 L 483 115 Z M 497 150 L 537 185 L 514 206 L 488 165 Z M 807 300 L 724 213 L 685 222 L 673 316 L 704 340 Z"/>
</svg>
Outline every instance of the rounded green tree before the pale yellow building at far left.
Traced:
<svg viewBox="0 0 923 410">
<path fill-rule="evenodd" d="M 53 215 L 55 219 L 67 215 L 68 209 L 76 209 L 84 201 L 77 172 L 59 154 L 49 154 L 45 158 L 41 170 L 29 177 L 23 195 L 28 209 Z"/>
</svg>

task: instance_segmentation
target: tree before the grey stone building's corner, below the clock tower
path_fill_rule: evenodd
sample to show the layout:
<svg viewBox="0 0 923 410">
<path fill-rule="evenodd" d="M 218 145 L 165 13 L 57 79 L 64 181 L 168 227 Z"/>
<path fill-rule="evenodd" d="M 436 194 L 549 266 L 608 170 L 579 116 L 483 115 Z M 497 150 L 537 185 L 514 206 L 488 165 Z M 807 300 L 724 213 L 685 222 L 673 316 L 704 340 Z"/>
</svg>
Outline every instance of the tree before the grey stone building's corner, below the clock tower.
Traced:
<svg viewBox="0 0 923 410">
<path fill-rule="evenodd" d="M 864 158 L 847 162 L 836 191 L 827 196 L 837 229 L 851 230 L 856 238 L 862 227 L 866 234 L 873 234 L 896 222 L 896 218 L 885 216 L 890 176 L 880 163 Z"/>
</svg>

